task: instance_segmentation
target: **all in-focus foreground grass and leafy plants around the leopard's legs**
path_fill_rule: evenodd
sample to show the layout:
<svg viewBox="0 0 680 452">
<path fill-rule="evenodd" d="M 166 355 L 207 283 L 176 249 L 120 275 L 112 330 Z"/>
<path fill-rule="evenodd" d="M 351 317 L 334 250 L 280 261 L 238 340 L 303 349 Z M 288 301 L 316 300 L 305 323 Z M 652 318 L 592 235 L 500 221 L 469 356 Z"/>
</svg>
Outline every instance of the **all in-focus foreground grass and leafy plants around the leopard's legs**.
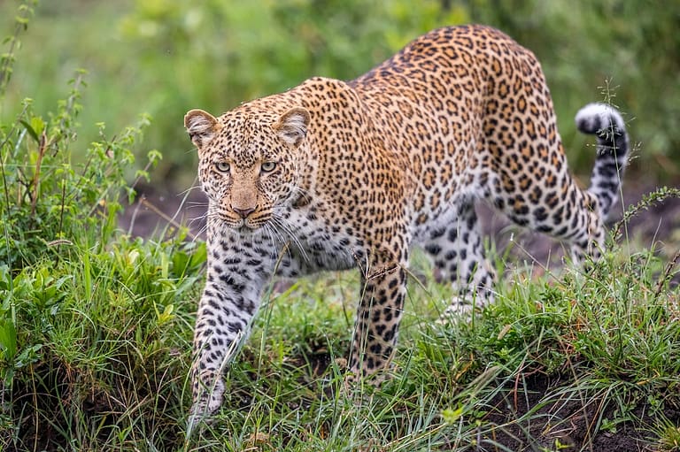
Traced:
<svg viewBox="0 0 680 452">
<path fill-rule="evenodd" d="M 0 102 L 32 5 L 5 42 Z M 269 290 L 224 408 L 186 438 L 205 244 L 182 227 L 162 241 L 120 232 L 128 180 L 148 175 L 133 151 L 150 119 L 83 144 L 85 80 L 51 114 L 26 99 L 0 121 L 2 450 L 677 450 L 680 257 L 634 241 L 589 272 L 510 272 L 498 303 L 449 325 L 436 320 L 452 294 L 416 257 L 427 277 L 411 281 L 380 388 L 344 387 L 355 275 Z"/>
</svg>

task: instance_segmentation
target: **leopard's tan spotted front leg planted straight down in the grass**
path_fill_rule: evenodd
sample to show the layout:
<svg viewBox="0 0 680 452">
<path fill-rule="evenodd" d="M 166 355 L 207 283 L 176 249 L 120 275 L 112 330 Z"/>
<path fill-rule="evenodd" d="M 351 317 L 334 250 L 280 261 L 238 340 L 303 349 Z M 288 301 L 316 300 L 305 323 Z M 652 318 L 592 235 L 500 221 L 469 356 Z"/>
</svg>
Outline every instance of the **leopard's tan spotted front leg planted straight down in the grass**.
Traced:
<svg viewBox="0 0 680 452">
<path fill-rule="evenodd" d="M 350 370 L 355 377 L 390 364 L 406 298 L 406 260 L 375 258 L 362 272 L 362 293 L 354 324 Z"/>
</svg>

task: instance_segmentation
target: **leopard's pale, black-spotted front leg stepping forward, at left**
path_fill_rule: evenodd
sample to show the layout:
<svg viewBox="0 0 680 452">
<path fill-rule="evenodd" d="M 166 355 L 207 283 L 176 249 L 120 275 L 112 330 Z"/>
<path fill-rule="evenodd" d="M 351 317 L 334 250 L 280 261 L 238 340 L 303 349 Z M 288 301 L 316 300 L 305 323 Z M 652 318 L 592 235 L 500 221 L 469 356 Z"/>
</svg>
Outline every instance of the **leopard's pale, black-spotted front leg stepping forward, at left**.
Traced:
<svg viewBox="0 0 680 452">
<path fill-rule="evenodd" d="M 243 243 L 241 243 L 243 245 Z M 250 333 L 263 287 L 271 275 L 272 257 L 259 256 L 255 246 L 220 243 L 208 259 L 205 289 L 198 304 L 191 366 L 193 406 L 189 426 L 220 408 L 222 372 Z"/>
</svg>

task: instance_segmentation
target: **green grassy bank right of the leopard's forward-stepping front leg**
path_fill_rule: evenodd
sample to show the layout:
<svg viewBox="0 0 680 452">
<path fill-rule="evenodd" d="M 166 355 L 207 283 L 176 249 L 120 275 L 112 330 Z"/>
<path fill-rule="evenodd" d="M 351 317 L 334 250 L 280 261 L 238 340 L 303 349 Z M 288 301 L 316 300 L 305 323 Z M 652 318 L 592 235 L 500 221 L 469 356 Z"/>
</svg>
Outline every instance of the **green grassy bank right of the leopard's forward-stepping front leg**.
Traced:
<svg viewBox="0 0 680 452">
<path fill-rule="evenodd" d="M 513 437 L 508 450 L 541 441 L 558 450 L 560 439 L 568 442 L 560 431 L 575 418 L 587 419 L 590 438 L 623 425 L 666 425 L 664 412 L 680 402 L 677 292 L 654 295 L 662 265 L 639 257 L 610 256 L 591 276 L 552 286 L 503 285 L 498 303 L 455 326 L 434 322 L 441 287 L 412 284 L 395 367 L 377 390 L 344 388 L 337 365 L 349 347 L 344 300 L 356 281 L 304 280 L 270 301 L 228 373 L 225 408 L 186 446 L 505 450 L 499 444 Z M 554 387 L 544 387 L 548 379 Z M 547 412 L 560 405 L 570 406 L 568 415 Z"/>
</svg>

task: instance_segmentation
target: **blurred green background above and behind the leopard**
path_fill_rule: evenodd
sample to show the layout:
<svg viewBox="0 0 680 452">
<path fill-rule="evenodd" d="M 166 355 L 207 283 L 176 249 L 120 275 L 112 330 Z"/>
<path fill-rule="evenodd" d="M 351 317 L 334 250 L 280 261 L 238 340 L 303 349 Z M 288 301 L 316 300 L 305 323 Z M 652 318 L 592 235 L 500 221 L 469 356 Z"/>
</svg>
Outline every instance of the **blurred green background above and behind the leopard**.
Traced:
<svg viewBox="0 0 680 452">
<path fill-rule="evenodd" d="M 3 35 L 19 4 L 0 0 Z M 85 69 L 79 142 L 94 140 L 99 122 L 113 134 L 149 113 L 143 152 L 164 155 L 152 182 L 183 189 L 196 165 L 182 127 L 189 109 L 220 113 L 313 75 L 352 79 L 431 28 L 468 22 L 498 27 L 537 54 L 584 181 L 593 150 L 573 118 L 603 100 L 629 121 L 633 177 L 680 178 L 680 2 L 42 0 L 20 35 L 0 118 L 14 118 L 24 97 L 37 112 L 54 110 Z"/>
</svg>

